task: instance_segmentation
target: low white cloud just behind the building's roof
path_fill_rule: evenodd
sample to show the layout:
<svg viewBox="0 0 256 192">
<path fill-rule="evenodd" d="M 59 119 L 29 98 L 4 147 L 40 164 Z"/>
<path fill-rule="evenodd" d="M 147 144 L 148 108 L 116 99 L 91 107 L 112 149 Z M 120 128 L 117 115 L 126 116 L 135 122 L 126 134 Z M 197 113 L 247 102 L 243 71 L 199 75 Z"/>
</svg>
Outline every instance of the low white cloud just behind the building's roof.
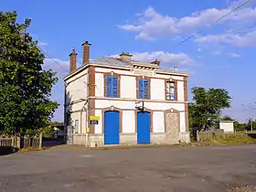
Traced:
<svg viewBox="0 0 256 192">
<path fill-rule="evenodd" d="M 153 52 L 134 52 L 133 59 L 143 62 L 151 62 L 155 59 L 160 60 L 162 64 L 173 66 L 186 66 L 195 63 L 194 59 L 191 59 L 185 53 L 169 53 L 165 51 L 153 51 Z M 118 55 L 112 55 L 111 57 L 119 58 Z"/>
</svg>

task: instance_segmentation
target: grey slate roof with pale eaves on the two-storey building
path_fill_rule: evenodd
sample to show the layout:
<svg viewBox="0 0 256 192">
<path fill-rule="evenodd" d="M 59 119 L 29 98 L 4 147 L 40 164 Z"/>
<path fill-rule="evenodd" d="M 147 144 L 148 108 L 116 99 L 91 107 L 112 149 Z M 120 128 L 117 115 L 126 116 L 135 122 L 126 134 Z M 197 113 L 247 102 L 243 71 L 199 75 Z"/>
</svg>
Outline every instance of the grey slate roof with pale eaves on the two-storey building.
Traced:
<svg viewBox="0 0 256 192">
<path fill-rule="evenodd" d="M 76 69 L 73 71 L 71 74 L 69 74 L 64 80 L 69 79 L 69 77 L 75 75 L 78 73 L 80 70 L 86 68 L 89 65 L 100 65 L 104 67 L 117 67 L 117 68 L 125 68 L 125 69 L 133 69 L 133 64 L 142 64 L 144 66 L 148 67 L 153 67 L 155 64 L 152 63 L 146 63 L 146 62 L 140 62 L 137 60 L 121 60 L 118 58 L 111 58 L 111 57 L 102 57 L 100 59 L 95 59 L 95 60 L 90 60 L 89 63 L 86 65 L 81 66 L 80 68 Z M 160 73 L 167 73 L 167 74 L 176 74 L 176 75 L 183 75 L 183 76 L 188 76 L 188 74 L 182 70 L 176 70 L 176 69 L 168 69 L 168 68 L 162 68 L 161 66 L 155 66 L 156 72 Z"/>
</svg>

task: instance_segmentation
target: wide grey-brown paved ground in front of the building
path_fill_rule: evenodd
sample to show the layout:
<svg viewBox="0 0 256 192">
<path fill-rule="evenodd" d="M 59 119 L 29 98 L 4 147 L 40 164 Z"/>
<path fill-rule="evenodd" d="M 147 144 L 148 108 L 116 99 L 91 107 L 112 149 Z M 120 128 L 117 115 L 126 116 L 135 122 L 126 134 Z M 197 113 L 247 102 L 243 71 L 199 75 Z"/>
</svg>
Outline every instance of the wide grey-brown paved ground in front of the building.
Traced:
<svg viewBox="0 0 256 192">
<path fill-rule="evenodd" d="M 1 192 L 256 191 L 256 145 L 64 146 L 0 156 L 0 168 Z"/>
</svg>

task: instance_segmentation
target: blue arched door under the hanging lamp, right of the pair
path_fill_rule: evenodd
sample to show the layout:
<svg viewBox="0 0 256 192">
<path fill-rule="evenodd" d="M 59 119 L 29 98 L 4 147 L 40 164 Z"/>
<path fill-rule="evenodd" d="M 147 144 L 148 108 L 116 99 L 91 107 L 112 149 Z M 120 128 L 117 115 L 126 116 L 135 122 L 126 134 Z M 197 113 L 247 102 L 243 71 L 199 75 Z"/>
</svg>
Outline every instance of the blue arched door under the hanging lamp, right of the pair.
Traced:
<svg viewBox="0 0 256 192">
<path fill-rule="evenodd" d="M 150 144 L 150 112 L 137 113 L 137 143 Z"/>
</svg>

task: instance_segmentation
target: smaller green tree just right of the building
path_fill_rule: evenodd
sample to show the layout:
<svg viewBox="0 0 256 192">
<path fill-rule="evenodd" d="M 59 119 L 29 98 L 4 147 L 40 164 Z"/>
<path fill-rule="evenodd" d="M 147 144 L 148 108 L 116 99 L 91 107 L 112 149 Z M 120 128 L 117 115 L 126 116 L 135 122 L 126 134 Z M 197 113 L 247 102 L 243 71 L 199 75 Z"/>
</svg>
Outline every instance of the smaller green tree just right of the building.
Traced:
<svg viewBox="0 0 256 192">
<path fill-rule="evenodd" d="M 189 125 L 205 129 L 219 121 L 221 111 L 230 107 L 229 92 L 224 89 L 192 88 L 193 101 L 188 105 Z"/>
</svg>

